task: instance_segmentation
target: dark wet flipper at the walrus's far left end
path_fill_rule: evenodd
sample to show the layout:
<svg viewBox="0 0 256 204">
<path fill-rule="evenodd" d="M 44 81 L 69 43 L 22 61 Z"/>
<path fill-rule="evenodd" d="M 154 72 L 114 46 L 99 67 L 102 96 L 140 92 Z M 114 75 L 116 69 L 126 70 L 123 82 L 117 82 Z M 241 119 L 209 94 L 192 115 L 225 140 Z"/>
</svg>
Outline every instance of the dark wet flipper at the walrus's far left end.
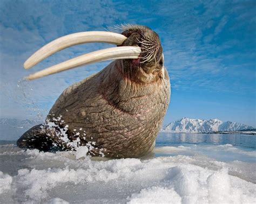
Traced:
<svg viewBox="0 0 256 204">
<path fill-rule="evenodd" d="M 33 126 L 26 131 L 18 140 L 18 147 L 26 147 L 28 149 L 38 149 L 40 151 L 56 151 L 56 145 L 49 137 L 47 130 L 43 124 Z"/>
</svg>

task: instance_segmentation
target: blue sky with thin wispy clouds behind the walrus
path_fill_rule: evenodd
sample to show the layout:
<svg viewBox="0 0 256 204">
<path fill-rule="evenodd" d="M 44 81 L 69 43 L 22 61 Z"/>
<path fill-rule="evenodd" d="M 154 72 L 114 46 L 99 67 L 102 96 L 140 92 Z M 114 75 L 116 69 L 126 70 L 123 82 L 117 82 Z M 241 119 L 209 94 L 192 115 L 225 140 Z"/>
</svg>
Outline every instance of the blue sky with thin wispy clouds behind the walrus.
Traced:
<svg viewBox="0 0 256 204">
<path fill-rule="evenodd" d="M 256 127 L 256 1 L 0 1 L 1 117 L 44 119 L 62 91 L 110 61 L 35 81 L 24 76 L 111 47 L 78 45 L 25 70 L 24 61 L 66 34 L 140 24 L 156 31 L 171 81 L 164 124 L 183 117 Z"/>
</svg>

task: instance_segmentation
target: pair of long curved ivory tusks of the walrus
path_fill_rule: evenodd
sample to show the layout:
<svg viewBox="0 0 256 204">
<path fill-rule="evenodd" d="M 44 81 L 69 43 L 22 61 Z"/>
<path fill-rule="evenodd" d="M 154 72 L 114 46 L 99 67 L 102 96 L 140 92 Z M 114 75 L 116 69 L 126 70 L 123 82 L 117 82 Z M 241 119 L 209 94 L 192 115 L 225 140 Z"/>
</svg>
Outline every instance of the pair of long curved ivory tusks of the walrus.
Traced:
<svg viewBox="0 0 256 204">
<path fill-rule="evenodd" d="M 106 31 L 89 31 L 69 34 L 68 36 L 60 37 L 51 41 L 40 48 L 37 52 L 25 61 L 24 68 L 29 69 L 38 64 L 43 59 L 49 57 L 53 53 L 63 50 L 66 47 L 83 43 L 110 43 L 115 45 L 122 45 L 127 39 L 122 34 L 106 32 Z M 60 64 L 53 65 L 42 71 L 30 74 L 26 77 L 28 80 L 41 78 L 42 76 L 58 73 L 67 69 L 75 68 L 78 66 L 91 64 L 93 62 L 115 59 L 138 59 L 141 50 L 138 46 L 122 46 L 111 47 L 103 50 L 80 55 L 79 57 L 64 61 Z"/>
</svg>

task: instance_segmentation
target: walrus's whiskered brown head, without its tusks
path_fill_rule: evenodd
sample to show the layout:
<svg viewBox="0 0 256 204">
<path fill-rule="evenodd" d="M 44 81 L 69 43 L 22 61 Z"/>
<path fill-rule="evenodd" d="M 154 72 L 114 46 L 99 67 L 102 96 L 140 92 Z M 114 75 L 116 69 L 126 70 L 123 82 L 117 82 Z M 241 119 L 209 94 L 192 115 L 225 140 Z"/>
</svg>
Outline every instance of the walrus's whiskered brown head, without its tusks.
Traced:
<svg viewBox="0 0 256 204">
<path fill-rule="evenodd" d="M 131 71 L 136 72 L 133 80 L 149 83 L 164 77 L 164 55 L 159 36 L 147 26 L 125 25 L 122 34 L 127 37 L 122 46 L 138 46 L 142 52 L 138 59 L 133 59 Z M 130 60 L 123 60 L 124 67 L 130 66 Z"/>
</svg>

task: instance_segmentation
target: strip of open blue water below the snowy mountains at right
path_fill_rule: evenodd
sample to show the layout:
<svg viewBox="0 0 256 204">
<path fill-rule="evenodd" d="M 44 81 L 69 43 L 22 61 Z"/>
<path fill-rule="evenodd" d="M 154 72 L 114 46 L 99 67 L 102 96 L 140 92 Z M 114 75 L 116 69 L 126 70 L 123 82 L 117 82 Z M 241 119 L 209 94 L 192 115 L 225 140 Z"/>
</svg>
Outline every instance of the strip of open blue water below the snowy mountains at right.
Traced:
<svg viewBox="0 0 256 204">
<path fill-rule="evenodd" d="M 256 149 L 256 135 L 245 134 L 197 134 L 197 133 L 164 133 L 160 132 L 156 146 L 171 146 L 172 144 L 208 144 L 248 147 Z"/>
</svg>

